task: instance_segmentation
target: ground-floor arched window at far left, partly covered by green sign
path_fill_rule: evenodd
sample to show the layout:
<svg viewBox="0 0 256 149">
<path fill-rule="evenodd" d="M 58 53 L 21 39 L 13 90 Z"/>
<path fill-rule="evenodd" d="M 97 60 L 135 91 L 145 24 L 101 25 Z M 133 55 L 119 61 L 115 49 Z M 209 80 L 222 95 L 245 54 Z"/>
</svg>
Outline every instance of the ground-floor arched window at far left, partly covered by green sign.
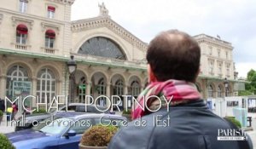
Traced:
<svg viewBox="0 0 256 149">
<path fill-rule="evenodd" d="M 12 97 L 13 93 L 13 82 L 14 81 L 28 81 L 28 73 L 26 68 L 23 66 L 12 66 L 7 72 L 6 79 L 6 95 Z"/>
</svg>

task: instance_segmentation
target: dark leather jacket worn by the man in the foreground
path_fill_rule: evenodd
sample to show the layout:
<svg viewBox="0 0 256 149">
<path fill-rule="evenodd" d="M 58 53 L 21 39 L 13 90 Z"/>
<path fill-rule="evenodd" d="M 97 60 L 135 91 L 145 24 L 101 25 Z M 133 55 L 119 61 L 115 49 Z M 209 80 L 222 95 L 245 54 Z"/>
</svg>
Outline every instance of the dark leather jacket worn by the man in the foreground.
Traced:
<svg viewBox="0 0 256 149">
<path fill-rule="evenodd" d="M 169 119 L 169 120 L 168 120 Z M 168 122 L 169 121 L 169 122 Z M 158 124 L 154 124 L 158 122 Z M 109 149 L 239 149 L 236 140 L 217 140 L 218 130 L 231 129 L 230 123 L 218 117 L 203 100 L 196 100 L 170 111 L 161 109 L 124 126 L 113 136 Z M 233 129 L 233 128 L 232 128 Z M 253 149 L 252 141 L 240 140 Z M 242 149 L 247 149 L 242 147 Z"/>
</svg>

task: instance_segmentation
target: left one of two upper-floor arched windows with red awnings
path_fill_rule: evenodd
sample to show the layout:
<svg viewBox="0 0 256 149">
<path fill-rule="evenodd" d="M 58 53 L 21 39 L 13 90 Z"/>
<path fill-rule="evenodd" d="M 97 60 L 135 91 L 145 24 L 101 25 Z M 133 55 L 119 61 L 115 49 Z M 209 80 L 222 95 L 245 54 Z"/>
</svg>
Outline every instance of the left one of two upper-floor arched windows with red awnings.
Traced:
<svg viewBox="0 0 256 149">
<path fill-rule="evenodd" d="M 20 24 L 16 27 L 16 43 L 18 44 L 26 44 L 27 37 L 27 27 L 23 24 Z"/>
</svg>

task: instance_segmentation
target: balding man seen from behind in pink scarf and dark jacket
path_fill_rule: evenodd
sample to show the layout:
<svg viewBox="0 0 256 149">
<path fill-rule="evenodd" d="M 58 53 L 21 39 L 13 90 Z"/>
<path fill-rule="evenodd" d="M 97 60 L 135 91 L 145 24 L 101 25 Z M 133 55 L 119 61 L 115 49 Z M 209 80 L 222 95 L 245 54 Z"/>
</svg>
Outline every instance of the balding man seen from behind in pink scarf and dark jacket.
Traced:
<svg viewBox="0 0 256 149">
<path fill-rule="evenodd" d="M 161 32 L 149 43 L 146 58 L 148 87 L 135 102 L 134 120 L 119 129 L 109 149 L 253 149 L 248 136 L 218 140 L 227 135 L 223 131 L 239 129 L 201 100 L 195 86 L 201 49 L 193 37 L 177 30 Z"/>
</svg>

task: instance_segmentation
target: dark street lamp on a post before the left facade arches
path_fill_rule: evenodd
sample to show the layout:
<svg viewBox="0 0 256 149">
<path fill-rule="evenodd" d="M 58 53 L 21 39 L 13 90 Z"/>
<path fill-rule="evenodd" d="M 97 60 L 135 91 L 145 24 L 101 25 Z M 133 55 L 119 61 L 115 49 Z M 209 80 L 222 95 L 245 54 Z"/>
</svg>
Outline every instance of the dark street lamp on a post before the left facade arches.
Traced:
<svg viewBox="0 0 256 149">
<path fill-rule="evenodd" d="M 74 102 L 74 85 L 75 85 L 75 72 L 77 63 L 73 60 L 73 55 L 70 56 L 71 60 L 67 61 L 67 69 L 69 73 L 69 101 Z"/>
</svg>

